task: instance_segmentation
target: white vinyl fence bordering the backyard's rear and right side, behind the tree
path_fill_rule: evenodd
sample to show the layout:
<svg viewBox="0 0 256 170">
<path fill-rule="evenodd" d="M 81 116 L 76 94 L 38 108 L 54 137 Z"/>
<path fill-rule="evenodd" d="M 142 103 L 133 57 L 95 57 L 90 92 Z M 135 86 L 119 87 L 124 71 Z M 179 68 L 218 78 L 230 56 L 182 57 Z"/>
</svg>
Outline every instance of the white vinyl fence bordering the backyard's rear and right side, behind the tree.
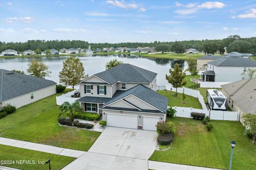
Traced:
<svg viewBox="0 0 256 170">
<path fill-rule="evenodd" d="M 170 90 L 170 91 L 175 92 L 176 88 L 172 87 L 171 84 L 165 84 L 165 86 L 157 86 L 157 90 Z M 202 108 L 207 109 L 206 106 L 205 106 L 205 103 L 204 103 L 204 98 L 198 90 L 189 89 L 189 88 L 186 88 L 186 87 L 182 87 L 182 88 L 177 89 L 177 92 L 179 92 L 181 94 L 183 94 L 183 91 L 184 91 L 184 94 L 186 94 L 186 95 L 198 98 Z"/>
</svg>

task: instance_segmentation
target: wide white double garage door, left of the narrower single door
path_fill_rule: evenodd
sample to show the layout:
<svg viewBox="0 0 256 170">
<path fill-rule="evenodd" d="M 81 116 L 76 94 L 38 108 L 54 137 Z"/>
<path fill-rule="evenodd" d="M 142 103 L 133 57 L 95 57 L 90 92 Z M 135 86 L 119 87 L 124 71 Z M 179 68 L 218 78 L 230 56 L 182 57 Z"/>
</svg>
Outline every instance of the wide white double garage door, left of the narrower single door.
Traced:
<svg viewBox="0 0 256 170">
<path fill-rule="evenodd" d="M 107 126 L 114 126 L 119 128 L 138 129 L 138 116 L 127 114 L 107 114 Z"/>
</svg>

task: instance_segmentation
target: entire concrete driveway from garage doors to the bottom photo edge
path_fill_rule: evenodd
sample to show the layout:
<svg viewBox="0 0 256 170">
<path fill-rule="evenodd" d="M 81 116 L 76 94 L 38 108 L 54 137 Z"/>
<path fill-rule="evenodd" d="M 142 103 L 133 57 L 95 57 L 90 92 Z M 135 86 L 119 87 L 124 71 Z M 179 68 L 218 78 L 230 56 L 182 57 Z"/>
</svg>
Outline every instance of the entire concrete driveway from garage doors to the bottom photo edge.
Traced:
<svg viewBox="0 0 256 170">
<path fill-rule="evenodd" d="M 107 127 L 88 152 L 63 169 L 147 170 L 156 138 L 156 132 Z"/>
</svg>

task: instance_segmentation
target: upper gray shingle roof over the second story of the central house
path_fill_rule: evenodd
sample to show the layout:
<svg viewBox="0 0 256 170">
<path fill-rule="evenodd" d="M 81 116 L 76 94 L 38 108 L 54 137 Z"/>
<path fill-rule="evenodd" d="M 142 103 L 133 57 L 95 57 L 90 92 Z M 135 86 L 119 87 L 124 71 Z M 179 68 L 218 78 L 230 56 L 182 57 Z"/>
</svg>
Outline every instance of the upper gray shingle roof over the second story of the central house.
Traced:
<svg viewBox="0 0 256 170">
<path fill-rule="evenodd" d="M 142 69 L 132 64 L 119 64 L 109 70 L 94 74 L 110 84 L 117 81 L 150 83 L 154 80 L 157 73 Z"/>
</svg>

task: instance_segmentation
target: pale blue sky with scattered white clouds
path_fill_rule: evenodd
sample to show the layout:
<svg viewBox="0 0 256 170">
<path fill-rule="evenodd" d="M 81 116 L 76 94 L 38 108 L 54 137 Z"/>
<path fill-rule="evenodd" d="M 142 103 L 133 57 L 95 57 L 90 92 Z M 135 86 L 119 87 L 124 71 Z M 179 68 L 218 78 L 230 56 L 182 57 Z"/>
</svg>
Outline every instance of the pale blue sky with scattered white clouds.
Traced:
<svg viewBox="0 0 256 170">
<path fill-rule="evenodd" d="M 0 40 L 89 43 L 256 36 L 256 1 L 0 1 Z"/>
</svg>

